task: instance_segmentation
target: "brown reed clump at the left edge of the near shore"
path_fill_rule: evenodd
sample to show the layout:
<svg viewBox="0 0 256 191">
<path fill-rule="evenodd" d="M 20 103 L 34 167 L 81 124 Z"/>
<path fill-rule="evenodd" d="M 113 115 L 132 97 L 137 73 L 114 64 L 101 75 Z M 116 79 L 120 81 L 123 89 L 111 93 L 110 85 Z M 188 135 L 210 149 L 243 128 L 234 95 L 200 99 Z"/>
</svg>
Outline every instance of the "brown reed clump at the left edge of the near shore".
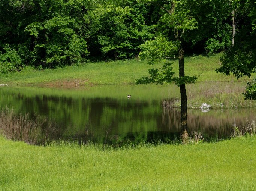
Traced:
<svg viewBox="0 0 256 191">
<path fill-rule="evenodd" d="M 24 141 L 28 144 L 44 144 L 60 133 L 56 123 L 46 117 L 34 115 L 31 119 L 28 113 L 16 114 L 8 107 L 0 111 L 0 121 L 1 134 L 8 139 Z"/>
</svg>

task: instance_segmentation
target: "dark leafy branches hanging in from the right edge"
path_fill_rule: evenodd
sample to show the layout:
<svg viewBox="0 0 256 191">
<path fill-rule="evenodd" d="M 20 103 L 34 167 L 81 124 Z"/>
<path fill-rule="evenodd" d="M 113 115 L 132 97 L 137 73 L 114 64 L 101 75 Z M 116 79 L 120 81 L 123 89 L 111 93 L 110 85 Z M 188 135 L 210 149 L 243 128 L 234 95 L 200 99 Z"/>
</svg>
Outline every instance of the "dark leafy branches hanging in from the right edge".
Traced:
<svg viewBox="0 0 256 191">
<path fill-rule="evenodd" d="M 222 65 L 217 72 L 230 75 L 237 79 L 242 76 L 251 78 L 256 73 L 256 3 L 250 0 L 240 1 L 239 29 L 234 34 L 234 45 L 230 46 L 221 58 Z M 256 80 L 247 83 L 245 99 L 256 100 Z"/>
</svg>

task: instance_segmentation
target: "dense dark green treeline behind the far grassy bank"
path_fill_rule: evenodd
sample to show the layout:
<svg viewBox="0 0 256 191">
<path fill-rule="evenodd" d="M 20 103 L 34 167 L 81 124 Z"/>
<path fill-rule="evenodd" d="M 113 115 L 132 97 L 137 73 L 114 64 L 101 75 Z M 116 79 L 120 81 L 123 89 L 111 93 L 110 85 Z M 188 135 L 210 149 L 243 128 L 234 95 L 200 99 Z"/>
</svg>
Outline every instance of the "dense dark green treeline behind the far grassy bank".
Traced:
<svg viewBox="0 0 256 191">
<path fill-rule="evenodd" d="M 242 1 L 183 1 L 197 22 L 188 37 L 194 40 L 183 45 L 187 54 L 225 50 L 232 44 L 233 27 L 239 31 L 246 25 Z M 140 52 L 139 46 L 154 39 L 163 28 L 166 35 L 173 36 L 171 21 L 168 26 L 165 18 L 161 18 L 165 12 L 159 6 L 161 3 L 160 0 L 2 0 L 0 73 L 21 70 L 27 65 L 43 69 L 88 60 L 133 59 Z"/>
</svg>

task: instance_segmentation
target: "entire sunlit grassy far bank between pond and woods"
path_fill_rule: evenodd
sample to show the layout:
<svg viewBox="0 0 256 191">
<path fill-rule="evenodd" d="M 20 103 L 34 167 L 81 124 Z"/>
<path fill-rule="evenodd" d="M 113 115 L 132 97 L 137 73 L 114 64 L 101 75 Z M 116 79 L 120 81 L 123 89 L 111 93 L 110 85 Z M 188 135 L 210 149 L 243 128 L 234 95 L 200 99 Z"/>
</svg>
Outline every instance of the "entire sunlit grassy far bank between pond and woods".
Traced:
<svg viewBox="0 0 256 191">
<path fill-rule="evenodd" d="M 225 76 L 216 73 L 220 66 L 219 58 L 222 53 L 211 57 L 191 56 L 185 58 L 186 75 L 195 75 L 198 82 L 208 81 L 235 81 L 234 76 Z M 178 75 L 178 60 L 174 60 L 174 71 Z M 148 76 L 148 69 L 159 68 L 159 65 L 150 66 L 147 61 L 138 59 L 127 61 L 83 63 L 80 66 L 66 66 L 58 69 L 45 69 L 37 71 L 32 67 L 26 67 L 21 72 L 11 75 L 1 75 L 0 84 L 9 85 L 38 85 L 55 81 L 72 81 L 76 85 L 95 84 L 135 84 L 135 79 Z M 247 80 L 241 78 L 240 81 Z M 65 83 L 64 83 L 65 84 Z"/>
</svg>

